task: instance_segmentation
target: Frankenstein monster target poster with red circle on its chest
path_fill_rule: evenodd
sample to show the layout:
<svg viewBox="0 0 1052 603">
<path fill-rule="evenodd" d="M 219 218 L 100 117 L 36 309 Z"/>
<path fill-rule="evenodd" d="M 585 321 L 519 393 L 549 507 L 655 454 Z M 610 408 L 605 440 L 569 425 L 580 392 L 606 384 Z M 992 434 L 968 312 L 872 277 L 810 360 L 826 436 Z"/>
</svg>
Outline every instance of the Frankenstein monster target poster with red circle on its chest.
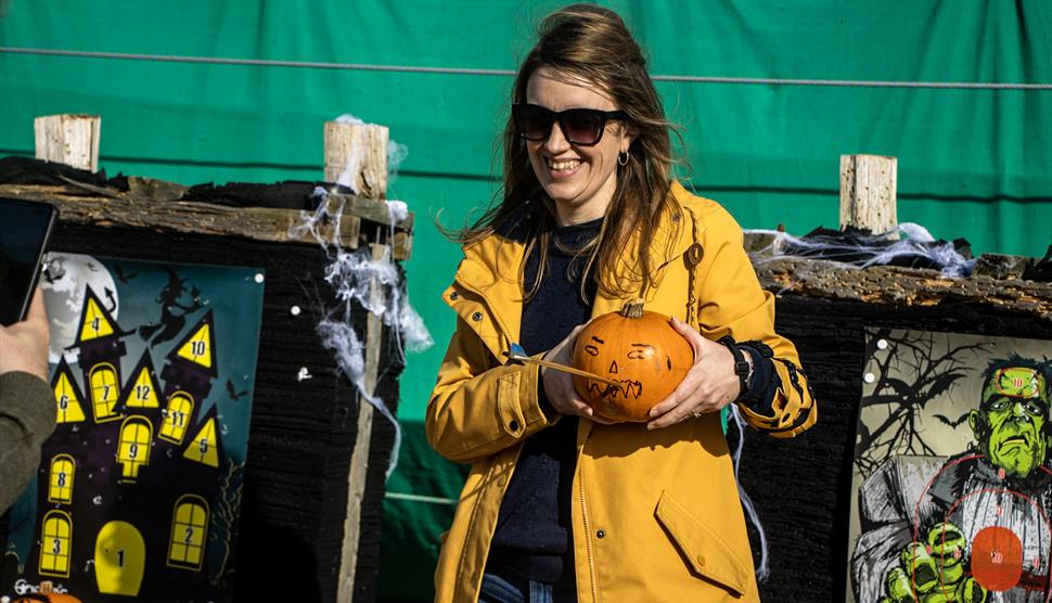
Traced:
<svg viewBox="0 0 1052 603">
<path fill-rule="evenodd" d="M 850 595 L 1052 599 L 1052 342 L 869 330 Z"/>
</svg>

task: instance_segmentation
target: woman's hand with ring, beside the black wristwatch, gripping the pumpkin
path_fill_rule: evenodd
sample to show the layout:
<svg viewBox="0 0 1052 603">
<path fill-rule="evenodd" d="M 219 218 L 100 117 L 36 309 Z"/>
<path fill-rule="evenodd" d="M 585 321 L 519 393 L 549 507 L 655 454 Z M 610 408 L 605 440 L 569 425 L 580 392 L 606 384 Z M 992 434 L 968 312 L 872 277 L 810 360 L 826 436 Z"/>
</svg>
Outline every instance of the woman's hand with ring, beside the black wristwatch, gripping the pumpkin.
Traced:
<svg viewBox="0 0 1052 603">
<path fill-rule="evenodd" d="M 669 324 L 694 348 L 694 364 L 676 389 L 651 409 L 647 429 L 694 420 L 703 412 L 717 412 L 733 402 L 742 387 L 734 374 L 731 350 L 723 344 L 706 339 L 677 318 L 672 318 Z"/>
</svg>

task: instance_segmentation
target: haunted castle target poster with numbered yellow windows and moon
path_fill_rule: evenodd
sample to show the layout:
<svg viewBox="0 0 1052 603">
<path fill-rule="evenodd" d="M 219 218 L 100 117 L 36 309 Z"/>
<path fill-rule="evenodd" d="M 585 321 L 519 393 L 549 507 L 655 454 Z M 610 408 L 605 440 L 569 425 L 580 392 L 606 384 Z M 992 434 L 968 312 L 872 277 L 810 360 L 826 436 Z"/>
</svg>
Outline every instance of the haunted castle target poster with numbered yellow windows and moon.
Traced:
<svg viewBox="0 0 1052 603">
<path fill-rule="evenodd" d="M 262 282 L 49 257 L 59 421 L 11 511 L 0 595 L 230 600 Z"/>
</svg>

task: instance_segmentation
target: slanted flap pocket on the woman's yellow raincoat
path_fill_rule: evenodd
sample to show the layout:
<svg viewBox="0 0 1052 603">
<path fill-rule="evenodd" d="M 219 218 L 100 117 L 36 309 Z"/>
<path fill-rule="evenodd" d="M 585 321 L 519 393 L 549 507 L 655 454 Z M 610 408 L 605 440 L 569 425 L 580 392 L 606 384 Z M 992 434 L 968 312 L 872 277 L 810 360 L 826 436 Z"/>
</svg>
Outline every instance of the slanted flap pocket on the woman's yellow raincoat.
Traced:
<svg viewBox="0 0 1052 603">
<path fill-rule="evenodd" d="M 749 585 L 748 565 L 739 560 L 719 534 L 668 492 L 662 492 L 655 515 L 694 572 L 737 595 L 745 594 Z"/>
</svg>

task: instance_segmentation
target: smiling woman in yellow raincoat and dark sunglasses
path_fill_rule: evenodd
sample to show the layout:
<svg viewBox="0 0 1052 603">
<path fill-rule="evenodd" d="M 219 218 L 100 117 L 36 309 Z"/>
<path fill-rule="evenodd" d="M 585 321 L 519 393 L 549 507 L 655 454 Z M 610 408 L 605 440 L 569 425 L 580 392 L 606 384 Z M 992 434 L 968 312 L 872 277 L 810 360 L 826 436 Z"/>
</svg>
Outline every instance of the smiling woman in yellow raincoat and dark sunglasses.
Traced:
<svg viewBox="0 0 1052 603">
<path fill-rule="evenodd" d="M 671 180 L 670 126 L 612 11 L 546 18 L 512 101 L 503 201 L 460 234 L 445 293 L 459 320 L 427 436 L 472 471 L 436 600 L 756 601 L 718 411 L 792 437 L 816 408 L 741 229 Z M 517 345 L 570 364 L 581 323 L 640 297 L 695 356 L 647 423 L 601 420 L 566 373 L 506 361 Z"/>
</svg>

